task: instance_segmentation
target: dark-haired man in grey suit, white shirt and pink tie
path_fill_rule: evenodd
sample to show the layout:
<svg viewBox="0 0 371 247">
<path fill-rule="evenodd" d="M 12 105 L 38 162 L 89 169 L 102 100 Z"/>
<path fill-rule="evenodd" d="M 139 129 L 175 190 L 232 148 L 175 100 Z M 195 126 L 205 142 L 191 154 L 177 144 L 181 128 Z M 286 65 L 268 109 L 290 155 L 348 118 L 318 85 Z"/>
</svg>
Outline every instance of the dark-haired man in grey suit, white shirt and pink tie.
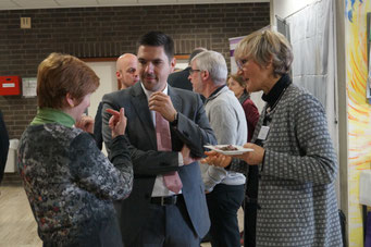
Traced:
<svg viewBox="0 0 371 247">
<path fill-rule="evenodd" d="M 215 136 L 200 97 L 166 83 L 175 66 L 172 38 L 160 32 L 144 35 L 137 57 L 140 83 L 103 97 L 108 151 L 108 108 L 125 108 L 131 141 L 134 186 L 118 212 L 123 243 L 126 247 L 199 246 L 210 220 L 196 159 L 203 156 L 203 145 L 215 144 Z M 164 150 L 166 127 L 171 147 Z M 177 176 L 176 189 L 169 186 L 171 174 Z"/>
</svg>

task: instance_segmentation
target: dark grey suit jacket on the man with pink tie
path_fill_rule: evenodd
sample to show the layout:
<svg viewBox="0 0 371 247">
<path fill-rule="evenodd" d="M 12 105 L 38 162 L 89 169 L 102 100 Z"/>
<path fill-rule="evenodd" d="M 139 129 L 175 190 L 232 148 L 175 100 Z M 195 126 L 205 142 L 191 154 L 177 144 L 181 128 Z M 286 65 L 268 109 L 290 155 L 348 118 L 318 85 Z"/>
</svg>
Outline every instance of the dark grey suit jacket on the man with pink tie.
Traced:
<svg viewBox="0 0 371 247">
<path fill-rule="evenodd" d="M 125 245 L 129 245 L 141 231 L 149 215 L 149 202 L 158 174 L 178 171 L 183 183 L 183 196 L 195 233 L 203 237 L 210 227 L 205 199 L 205 188 L 198 162 L 178 166 L 178 151 L 186 144 L 194 157 L 203 156 L 203 145 L 215 144 L 200 97 L 191 91 L 169 86 L 169 96 L 178 112 L 176 128 L 171 127 L 173 151 L 158 151 L 156 131 L 147 97 L 140 83 L 126 90 L 103 97 L 103 139 L 109 147 L 111 131 L 107 108 L 125 108 L 127 118 L 126 136 L 134 168 L 134 186 L 131 196 L 123 200 L 121 230 Z M 108 148 L 109 151 L 109 148 Z"/>
</svg>

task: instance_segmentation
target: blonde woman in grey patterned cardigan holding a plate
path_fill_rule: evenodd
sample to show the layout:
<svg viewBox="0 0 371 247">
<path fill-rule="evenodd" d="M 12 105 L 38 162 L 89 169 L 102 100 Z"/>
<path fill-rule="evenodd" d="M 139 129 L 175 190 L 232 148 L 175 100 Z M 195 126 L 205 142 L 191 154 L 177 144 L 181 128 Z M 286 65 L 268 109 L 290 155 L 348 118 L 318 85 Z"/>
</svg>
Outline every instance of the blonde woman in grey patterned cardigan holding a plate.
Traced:
<svg viewBox="0 0 371 247">
<path fill-rule="evenodd" d="M 235 49 L 247 90 L 267 102 L 251 143 L 232 158 L 215 152 L 203 162 L 248 174 L 245 246 L 342 246 L 335 178 L 337 161 L 323 107 L 289 76 L 292 47 L 269 29 Z"/>
</svg>

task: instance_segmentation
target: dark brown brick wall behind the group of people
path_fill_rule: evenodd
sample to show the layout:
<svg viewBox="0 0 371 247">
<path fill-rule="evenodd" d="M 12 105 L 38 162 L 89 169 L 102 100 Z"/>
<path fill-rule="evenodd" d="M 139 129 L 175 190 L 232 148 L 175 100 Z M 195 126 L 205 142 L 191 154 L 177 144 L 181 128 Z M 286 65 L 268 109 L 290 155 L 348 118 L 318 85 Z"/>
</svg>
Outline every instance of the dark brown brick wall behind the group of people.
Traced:
<svg viewBox="0 0 371 247">
<path fill-rule="evenodd" d="M 32 29 L 20 17 L 32 17 Z M 195 47 L 222 52 L 228 38 L 269 25 L 269 3 L 112 7 L 0 11 L 0 75 L 36 77 L 38 64 L 53 51 L 78 58 L 136 53 L 136 40 L 158 29 L 171 35 L 176 54 Z M 36 113 L 35 98 L 0 96 L 10 138 L 20 138 Z"/>
</svg>

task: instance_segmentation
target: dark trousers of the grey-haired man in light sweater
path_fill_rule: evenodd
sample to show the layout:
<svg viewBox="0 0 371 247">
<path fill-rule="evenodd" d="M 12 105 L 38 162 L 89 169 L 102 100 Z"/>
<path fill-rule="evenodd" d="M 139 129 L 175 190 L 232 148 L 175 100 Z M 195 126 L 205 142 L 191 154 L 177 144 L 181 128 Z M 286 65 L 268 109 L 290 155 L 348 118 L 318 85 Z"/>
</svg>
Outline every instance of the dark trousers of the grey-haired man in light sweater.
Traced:
<svg viewBox="0 0 371 247">
<path fill-rule="evenodd" d="M 240 246 L 237 211 L 245 198 L 245 185 L 219 184 L 206 198 L 212 247 Z"/>
</svg>

